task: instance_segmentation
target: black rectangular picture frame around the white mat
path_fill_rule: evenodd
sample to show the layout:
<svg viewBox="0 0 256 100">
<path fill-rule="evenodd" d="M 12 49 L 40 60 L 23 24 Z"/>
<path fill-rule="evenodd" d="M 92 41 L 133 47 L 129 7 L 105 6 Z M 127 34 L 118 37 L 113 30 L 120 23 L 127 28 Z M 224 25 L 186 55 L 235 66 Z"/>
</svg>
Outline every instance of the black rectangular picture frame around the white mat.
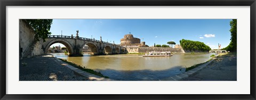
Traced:
<svg viewBox="0 0 256 100">
<path fill-rule="evenodd" d="M 1 0 L 1 99 L 255 99 L 255 0 Z M 6 94 L 6 6 L 250 6 L 250 94 L 247 95 L 11 95 Z M 18 50 L 17 50 L 18 51 Z"/>
</svg>

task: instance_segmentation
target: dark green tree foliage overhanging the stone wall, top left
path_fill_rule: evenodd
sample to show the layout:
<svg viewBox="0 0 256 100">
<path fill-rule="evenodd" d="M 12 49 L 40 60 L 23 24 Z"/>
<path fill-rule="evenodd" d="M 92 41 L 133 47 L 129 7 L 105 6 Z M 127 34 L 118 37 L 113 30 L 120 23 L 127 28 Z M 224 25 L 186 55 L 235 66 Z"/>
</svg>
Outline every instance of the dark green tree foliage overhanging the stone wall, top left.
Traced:
<svg viewBox="0 0 256 100">
<path fill-rule="evenodd" d="M 41 38 L 45 41 L 45 38 L 51 35 L 52 19 L 26 19 L 25 21 L 34 29 L 35 41 L 39 41 Z"/>
</svg>

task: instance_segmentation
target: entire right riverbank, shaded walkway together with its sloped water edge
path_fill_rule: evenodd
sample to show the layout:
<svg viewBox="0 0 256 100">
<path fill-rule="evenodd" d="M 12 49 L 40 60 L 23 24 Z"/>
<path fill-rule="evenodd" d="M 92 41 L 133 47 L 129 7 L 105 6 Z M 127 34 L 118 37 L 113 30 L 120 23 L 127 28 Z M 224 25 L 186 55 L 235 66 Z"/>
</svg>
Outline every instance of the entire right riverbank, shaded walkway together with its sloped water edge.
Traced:
<svg viewBox="0 0 256 100">
<path fill-rule="evenodd" d="M 193 65 L 186 72 L 159 79 L 162 81 L 233 81 L 236 80 L 236 53 L 219 54 L 211 60 Z"/>
</svg>

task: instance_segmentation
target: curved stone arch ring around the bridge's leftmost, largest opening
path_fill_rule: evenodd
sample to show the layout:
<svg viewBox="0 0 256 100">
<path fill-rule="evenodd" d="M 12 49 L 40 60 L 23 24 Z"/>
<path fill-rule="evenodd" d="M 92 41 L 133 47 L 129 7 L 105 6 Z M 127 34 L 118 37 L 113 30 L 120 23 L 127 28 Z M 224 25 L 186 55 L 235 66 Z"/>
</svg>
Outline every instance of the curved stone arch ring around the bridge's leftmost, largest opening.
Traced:
<svg viewBox="0 0 256 100">
<path fill-rule="evenodd" d="M 67 40 L 64 40 L 64 39 L 53 39 L 53 40 L 49 41 L 49 43 L 47 43 L 46 46 L 45 46 L 44 53 L 46 54 L 48 52 L 49 47 L 52 44 L 55 44 L 55 43 L 61 43 L 61 44 L 65 45 L 67 47 L 67 49 L 68 49 L 68 53 L 69 54 L 73 54 L 74 53 L 73 47 L 71 46 L 71 44 Z"/>
</svg>

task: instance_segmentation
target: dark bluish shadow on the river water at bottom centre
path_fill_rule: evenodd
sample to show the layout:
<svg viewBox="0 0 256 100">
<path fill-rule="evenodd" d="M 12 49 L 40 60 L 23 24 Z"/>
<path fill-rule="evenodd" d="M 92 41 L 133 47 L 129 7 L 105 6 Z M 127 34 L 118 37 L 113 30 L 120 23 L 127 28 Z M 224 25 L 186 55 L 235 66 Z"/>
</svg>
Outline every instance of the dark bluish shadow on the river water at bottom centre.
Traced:
<svg viewBox="0 0 256 100">
<path fill-rule="evenodd" d="M 175 74 L 183 73 L 186 71 L 185 66 L 174 66 L 166 70 L 114 70 L 106 69 L 100 71 L 103 75 L 108 76 L 110 79 L 124 80 L 124 81 L 154 81 L 164 79 Z"/>
</svg>

